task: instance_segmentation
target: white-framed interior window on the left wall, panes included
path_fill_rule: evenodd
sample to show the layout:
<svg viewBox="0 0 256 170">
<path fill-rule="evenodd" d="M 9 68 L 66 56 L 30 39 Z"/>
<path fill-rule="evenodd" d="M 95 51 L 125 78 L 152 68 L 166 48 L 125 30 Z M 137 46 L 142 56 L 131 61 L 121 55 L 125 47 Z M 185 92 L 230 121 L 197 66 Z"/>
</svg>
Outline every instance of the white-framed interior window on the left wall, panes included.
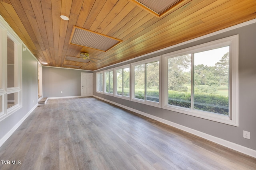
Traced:
<svg viewBox="0 0 256 170">
<path fill-rule="evenodd" d="M 0 25 L 0 121 L 22 107 L 22 44 Z"/>
</svg>

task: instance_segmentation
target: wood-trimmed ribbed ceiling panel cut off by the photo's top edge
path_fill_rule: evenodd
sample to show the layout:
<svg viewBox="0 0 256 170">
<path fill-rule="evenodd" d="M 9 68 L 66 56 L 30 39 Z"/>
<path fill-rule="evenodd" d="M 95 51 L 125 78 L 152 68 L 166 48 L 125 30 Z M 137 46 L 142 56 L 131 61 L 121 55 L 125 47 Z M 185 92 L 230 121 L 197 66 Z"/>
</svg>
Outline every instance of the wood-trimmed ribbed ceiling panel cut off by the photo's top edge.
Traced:
<svg viewBox="0 0 256 170">
<path fill-rule="evenodd" d="M 130 0 L 137 6 L 147 10 L 151 14 L 157 17 L 169 12 L 174 6 L 176 6 L 182 0 Z"/>
</svg>

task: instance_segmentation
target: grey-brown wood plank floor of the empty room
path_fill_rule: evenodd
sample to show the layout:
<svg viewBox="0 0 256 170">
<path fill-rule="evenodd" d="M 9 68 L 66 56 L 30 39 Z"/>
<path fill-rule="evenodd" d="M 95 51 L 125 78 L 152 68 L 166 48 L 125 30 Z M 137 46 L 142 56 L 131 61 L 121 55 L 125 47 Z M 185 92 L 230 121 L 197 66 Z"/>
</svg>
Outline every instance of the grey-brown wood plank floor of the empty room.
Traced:
<svg viewBox="0 0 256 170">
<path fill-rule="evenodd" d="M 256 158 L 96 98 L 48 100 L 0 147 L 0 159 L 16 161 L 1 170 L 256 169 Z"/>
</svg>

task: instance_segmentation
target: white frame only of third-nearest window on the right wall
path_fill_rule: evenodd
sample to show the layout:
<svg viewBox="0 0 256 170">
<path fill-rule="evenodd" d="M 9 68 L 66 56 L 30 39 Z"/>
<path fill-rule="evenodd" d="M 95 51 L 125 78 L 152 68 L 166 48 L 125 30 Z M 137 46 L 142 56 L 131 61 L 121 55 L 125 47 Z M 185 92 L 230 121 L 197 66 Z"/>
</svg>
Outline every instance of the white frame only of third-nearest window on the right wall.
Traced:
<svg viewBox="0 0 256 170">
<path fill-rule="evenodd" d="M 116 85 L 117 75 L 116 75 L 116 70 L 125 69 L 125 68 L 130 68 L 130 73 L 129 73 L 129 75 L 130 75 L 130 77 L 129 77 L 129 79 L 130 79 L 129 80 L 130 81 L 130 83 L 129 83 L 129 88 L 130 88 L 129 93 L 130 93 L 130 96 L 129 97 L 128 96 L 123 96 L 123 95 L 121 96 L 121 95 L 117 94 L 117 85 Z M 122 76 L 122 79 L 123 79 L 123 76 Z M 124 66 L 119 66 L 119 67 L 114 68 L 114 97 L 123 98 L 125 100 L 131 100 L 131 65 L 130 64 L 126 64 Z"/>
</svg>

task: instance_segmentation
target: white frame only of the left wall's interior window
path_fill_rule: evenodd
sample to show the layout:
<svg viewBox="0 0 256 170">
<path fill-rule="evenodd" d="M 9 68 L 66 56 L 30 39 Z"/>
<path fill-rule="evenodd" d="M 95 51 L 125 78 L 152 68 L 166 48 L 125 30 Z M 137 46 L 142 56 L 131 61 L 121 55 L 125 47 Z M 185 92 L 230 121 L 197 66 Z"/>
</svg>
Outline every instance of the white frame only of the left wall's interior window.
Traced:
<svg viewBox="0 0 256 170">
<path fill-rule="evenodd" d="M 14 82 L 15 87 L 7 87 L 7 37 L 14 42 Z M 9 30 L 7 27 L 2 25 L 0 22 L 0 60 L 2 60 L 1 66 L 1 78 L 2 88 L 0 89 L 0 96 L 2 96 L 2 111 L 0 112 L 0 121 L 4 120 L 12 113 L 16 112 L 22 107 L 22 42 Z M 16 102 L 14 106 L 8 108 L 7 95 L 17 93 Z"/>
</svg>

